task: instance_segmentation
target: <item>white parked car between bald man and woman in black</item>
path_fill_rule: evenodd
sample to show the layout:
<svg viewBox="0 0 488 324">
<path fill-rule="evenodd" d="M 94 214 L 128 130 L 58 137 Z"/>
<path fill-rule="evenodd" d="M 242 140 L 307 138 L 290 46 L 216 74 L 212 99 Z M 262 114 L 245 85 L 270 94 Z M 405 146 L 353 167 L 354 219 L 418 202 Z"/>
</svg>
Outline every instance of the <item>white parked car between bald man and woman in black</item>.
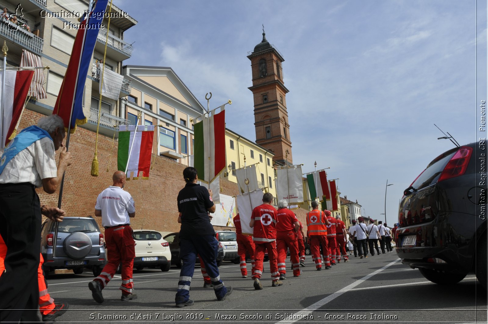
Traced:
<svg viewBox="0 0 488 324">
<path fill-rule="evenodd" d="M 160 232 L 147 229 L 135 229 L 132 234 L 136 242 L 134 268 L 159 267 L 161 271 L 169 271 L 171 267 L 171 251 L 169 243 Z"/>
</svg>

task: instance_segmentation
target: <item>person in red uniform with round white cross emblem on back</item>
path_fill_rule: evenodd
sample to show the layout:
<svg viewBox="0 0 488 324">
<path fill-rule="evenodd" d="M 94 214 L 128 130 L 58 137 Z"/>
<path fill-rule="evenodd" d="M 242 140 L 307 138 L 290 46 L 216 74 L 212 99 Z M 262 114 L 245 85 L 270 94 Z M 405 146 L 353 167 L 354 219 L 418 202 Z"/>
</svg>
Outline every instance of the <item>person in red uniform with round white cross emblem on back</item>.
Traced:
<svg viewBox="0 0 488 324">
<path fill-rule="evenodd" d="M 280 273 L 278 272 L 278 252 L 276 251 L 276 220 L 277 210 L 271 205 L 273 202 L 273 195 L 266 192 L 263 195 L 263 204 L 257 206 L 252 210 L 251 221 L 249 226 L 253 228 L 253 241 L 256 244 L 254 252 L 254 262 L 256 269 L 252 275 L 254 279 L 254 289 L 263 289 L 260 282 L 263 274 L 263 260 L 264 251 L 268 251 L 269 268 L 271 271 L 271 279 L 273 280 L 273 287 L 281 286 L 283 282 L 280 280 Z"/>
</svg>

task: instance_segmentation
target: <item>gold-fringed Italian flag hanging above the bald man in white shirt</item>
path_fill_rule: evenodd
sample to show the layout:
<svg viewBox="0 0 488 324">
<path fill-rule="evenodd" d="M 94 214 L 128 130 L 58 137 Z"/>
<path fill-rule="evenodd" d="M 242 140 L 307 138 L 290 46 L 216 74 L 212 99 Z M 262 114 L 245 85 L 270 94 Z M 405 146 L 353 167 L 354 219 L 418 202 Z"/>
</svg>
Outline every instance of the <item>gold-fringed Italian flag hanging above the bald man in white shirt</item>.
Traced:
<svg viewBox="0 0 488 324">
<path fill-rule="evenodd" d="M 119 128 L 117 168 L 125 171 L 127 179 L 131 178 L 131 173 L 134 173 L 134 179 L 139 179 L 141 171 L 142 179 L 149 179 L 154 125 L 139 125 L 137 131 L 135 129 L 136 126 L 128 126 L 128 131 L 126 131 L 124 125 Z"/>
</svg>

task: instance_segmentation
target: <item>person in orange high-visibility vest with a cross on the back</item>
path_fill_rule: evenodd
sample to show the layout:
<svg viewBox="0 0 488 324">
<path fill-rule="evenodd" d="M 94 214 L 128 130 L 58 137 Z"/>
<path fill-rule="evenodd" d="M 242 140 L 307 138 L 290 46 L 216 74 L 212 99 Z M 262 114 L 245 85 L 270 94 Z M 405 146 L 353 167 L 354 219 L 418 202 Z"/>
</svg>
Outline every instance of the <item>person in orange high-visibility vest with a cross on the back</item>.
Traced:
<svg viewBox="0 0 488 324">
<path fill-rule="evenodd" d="M 320 244 L 324 257 L 325 269 L 330 269 L 329 255 L 327 252 L 327 225 L 329 221 L 323 211 L 319 210 L 319 203 L 312 202 L 312 211 L 306 214 L 307 234 L 310 240 L 310 251 L 312 260 L 317 270 L 322 270 L 322 259 L 320 258 Z"/>
</svg>

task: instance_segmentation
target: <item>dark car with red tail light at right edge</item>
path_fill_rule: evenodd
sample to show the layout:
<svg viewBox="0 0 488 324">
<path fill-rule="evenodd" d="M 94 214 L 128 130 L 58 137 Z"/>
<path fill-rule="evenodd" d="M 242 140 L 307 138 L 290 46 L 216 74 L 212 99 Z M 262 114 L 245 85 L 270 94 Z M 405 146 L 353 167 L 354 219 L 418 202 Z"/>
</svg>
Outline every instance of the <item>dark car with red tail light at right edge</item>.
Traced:
<svg viewBox="0 0 488 324">
<path fill-rule="evenodd" d="M 444 152 L 400 200 L 396 252 L 433 283 L 474 272 L 487 286 L 486 152 L 484 141 Z"/>
</svg>

